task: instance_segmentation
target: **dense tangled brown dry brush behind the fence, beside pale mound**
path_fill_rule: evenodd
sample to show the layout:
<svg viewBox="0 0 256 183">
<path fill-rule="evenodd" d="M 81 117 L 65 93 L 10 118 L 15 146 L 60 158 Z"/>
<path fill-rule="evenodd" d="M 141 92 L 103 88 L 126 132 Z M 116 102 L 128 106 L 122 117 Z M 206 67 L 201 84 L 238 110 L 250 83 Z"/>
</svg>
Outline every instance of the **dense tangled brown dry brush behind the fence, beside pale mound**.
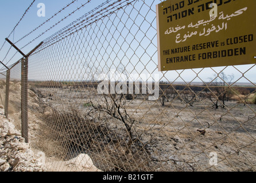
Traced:
<svg viewBox="0 0 256 183">
<path fill-rule="evenodd" d="M 38 146 L 47 156 L 69 160 L 77 153 L 87 153 L 104 171 L 150 170 L 145 146 L 138 141 L 129 144 L 125 129 L 120 126 L 110 127 L 103 119 L 88 119 L 76 110 L 53 110 L 41 118 Z"/>
</svg>

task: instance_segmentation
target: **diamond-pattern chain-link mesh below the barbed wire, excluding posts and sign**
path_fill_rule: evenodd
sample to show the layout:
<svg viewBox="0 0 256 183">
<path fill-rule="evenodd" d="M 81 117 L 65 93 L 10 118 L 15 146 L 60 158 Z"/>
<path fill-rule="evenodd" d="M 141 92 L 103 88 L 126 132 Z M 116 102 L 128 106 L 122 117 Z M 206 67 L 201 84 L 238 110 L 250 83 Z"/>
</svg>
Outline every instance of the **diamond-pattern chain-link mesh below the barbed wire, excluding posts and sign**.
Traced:
<svg viewBox="0 0 256 183">
<path fill-rule="evenodd" d="M 49 170 L 255 171 L 255 65 L 158 72 L 157 3 L 99 6 L 29 57 L 29 141 Z"/>
</svg>

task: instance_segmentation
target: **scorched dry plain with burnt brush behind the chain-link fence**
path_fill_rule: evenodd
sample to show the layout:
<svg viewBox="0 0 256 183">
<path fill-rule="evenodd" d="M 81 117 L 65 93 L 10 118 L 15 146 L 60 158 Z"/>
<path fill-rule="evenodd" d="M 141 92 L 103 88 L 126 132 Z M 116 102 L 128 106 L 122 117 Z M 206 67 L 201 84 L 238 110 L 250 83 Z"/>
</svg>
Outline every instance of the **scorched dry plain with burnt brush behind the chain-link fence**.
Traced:
<svg viewBox="0 0 256 183">
<path fill-rule="evenodd" d="M 9 115 L 21 129 L 20 82 L 10 83 Z M 2 103 L 5 81 L 0 83 Z M 103 171 L 255 171 L 256 105 L 236 100 L 215 109 L 207 97 L 189 105 L 179 97 L 119 100 L 94 87 L 29 83 L 29 141 L 48 166 L 88 154 Z M 119 97 L 119 98 L 118 98 Z M 111 103 L 112 102 L 112 103 Z M 118 103 L 119 102 L 119 103 Z M 107 107 L 113 107 L 112 114 Z M 125 118 L 115 118 L 115 112 Z M 128 126 L 125 125 L 125 122 Z M 212 153 L 216 154 L 212 164 Z M 53 162 L 57 168 L 53 167 Z"/>
</svg>

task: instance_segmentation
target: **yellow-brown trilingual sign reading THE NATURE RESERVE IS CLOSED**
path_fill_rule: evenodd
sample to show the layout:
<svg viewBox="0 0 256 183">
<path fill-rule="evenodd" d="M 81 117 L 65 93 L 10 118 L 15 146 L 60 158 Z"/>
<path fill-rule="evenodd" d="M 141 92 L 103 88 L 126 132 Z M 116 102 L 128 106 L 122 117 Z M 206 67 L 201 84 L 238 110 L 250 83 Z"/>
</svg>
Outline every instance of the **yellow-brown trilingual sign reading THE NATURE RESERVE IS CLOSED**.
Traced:
<svg viewBox="0 0 256 183">
<path fill-rule="evenodd" d="M 158 70 L 255 63 L 256 1 L 168 0 L 157 5 Z"/>
</svg>

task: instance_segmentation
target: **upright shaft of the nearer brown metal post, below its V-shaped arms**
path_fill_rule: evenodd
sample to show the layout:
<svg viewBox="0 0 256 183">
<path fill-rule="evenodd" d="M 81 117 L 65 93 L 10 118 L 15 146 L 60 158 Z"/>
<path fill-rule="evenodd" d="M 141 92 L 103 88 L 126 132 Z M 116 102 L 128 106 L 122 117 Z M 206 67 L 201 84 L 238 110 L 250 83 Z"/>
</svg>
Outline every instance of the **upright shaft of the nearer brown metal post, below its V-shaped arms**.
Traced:
<svg viewBox="0 0 256 183">
<path fill-rule="evenodd" d="M 28 143 L 28 57 L 21 61 L 21 134 Z"/>
</svg>

